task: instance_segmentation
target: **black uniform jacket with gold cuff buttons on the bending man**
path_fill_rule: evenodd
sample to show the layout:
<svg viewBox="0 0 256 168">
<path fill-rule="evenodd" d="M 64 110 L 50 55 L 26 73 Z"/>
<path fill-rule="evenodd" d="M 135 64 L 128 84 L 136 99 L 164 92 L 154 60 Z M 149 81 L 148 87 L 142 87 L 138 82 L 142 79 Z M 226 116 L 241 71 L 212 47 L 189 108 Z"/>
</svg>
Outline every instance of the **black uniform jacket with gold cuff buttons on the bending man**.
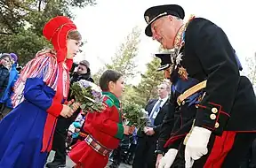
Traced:
<svg viewBox="0 0 256 168">
<path fill-rule="evenodd" d="M 236 53 L 227 35 L 211 21 L 197 18 L 188 24 L 184 39 L 180 65 L 186 69 L 188 78 L 198 82 L 207 80 L 207 83 L 197 108 L 185 103 L 176 111 L 181 112 L 180 118 L 175 119 L 176 133 L 172 140 L 188 134 L 194 118 L 195 126 L 207 128 L 216 135 L 224 130 L 255 132 L 256 99 L 252 83 L 240 76 Z"/>
</svg>

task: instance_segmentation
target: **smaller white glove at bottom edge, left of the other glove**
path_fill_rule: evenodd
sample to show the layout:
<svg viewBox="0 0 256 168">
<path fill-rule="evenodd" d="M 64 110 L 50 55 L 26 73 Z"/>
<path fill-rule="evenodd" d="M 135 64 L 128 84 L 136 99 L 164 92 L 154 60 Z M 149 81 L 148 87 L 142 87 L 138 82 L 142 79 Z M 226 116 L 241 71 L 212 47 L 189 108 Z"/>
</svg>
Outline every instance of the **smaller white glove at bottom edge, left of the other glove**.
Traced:
<svg viewBox="0 0 256 168">
<path fill-rule="evenodd" d="M 169 149 L 164 157 L 160 159 L 158 168 L 170 168 L 173 164 L 175 157 L 177 156 L 178 150 L 177 149 Z"/>
</svg>

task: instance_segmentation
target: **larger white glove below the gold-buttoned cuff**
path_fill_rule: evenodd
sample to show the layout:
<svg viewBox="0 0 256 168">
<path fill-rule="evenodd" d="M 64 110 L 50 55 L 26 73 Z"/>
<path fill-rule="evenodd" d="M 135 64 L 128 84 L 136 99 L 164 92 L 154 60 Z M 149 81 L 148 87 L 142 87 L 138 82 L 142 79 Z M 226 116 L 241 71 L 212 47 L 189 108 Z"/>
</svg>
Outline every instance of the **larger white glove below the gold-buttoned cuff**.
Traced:
<svg viewBox="0 0 256 168">
<path fill-rule="evenodd" d="M 208 153 L 207 144 L 212 132 L 204 127 L 195 126 L 185 148 L 185 167 L 191 168 L 194 160 Z"/>
</svg>

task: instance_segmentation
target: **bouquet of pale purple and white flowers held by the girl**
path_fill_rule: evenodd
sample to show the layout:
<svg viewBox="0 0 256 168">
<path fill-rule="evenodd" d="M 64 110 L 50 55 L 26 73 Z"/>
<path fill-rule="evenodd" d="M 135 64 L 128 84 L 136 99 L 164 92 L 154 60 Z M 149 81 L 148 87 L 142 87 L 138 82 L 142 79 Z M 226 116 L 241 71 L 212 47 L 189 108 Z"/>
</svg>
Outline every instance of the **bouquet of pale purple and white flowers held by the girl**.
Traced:
<svg viewBox="0 0 256 168">
<path fill-rule="evenodd" d="M 100 112 L 104 109 L 103 96 L 99 86 L 88 80 L 79 80 L 71 86 L 71 95 L 75 96 L 76 102 L 81 103 L 83 111 Z"/>
</svg>

